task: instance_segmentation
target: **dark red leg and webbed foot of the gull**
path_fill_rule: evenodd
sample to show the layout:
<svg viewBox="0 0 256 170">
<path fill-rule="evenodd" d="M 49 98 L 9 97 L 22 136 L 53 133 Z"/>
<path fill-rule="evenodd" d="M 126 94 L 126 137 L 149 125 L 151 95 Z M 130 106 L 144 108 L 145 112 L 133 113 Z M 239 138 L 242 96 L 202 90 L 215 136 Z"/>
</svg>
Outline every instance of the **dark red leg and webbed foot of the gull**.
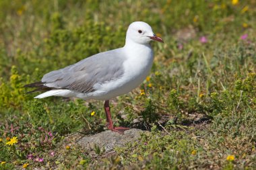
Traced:
<svg viewBox="0 0 256 170">
<path fill-rule="evenodd" d="M 125 130 L 129 130 L 129 128 L 124 128 L 124 127 L 114 128 L 113 121 L 112 121 L 111 114 L 110 114 L 109 100 L 105 101 L 104 110 L 106 112 L 106 122 L 108 122 L 108 124 L 107 124 L 108 129 L 112 130 L 113 132 L 118 132 L 119 134 L 124 134 Z"/>
</svg>

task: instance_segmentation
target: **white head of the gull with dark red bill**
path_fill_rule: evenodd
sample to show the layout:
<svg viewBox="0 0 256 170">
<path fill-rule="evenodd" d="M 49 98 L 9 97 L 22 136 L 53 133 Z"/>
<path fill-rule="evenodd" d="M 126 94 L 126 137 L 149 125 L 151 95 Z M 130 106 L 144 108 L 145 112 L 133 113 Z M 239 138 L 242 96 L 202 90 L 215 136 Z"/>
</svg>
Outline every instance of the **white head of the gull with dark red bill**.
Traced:
<svg viewBox="0 0 256 170">
<path fill-rule="evenodd" d="M 164 42 L 162 38 L 154 34 L 152 28 L 146 22 L 133 22 L 130 24 L 126 33 L 126 43 L 149 44 L 152 40 Z"/>
</svg>

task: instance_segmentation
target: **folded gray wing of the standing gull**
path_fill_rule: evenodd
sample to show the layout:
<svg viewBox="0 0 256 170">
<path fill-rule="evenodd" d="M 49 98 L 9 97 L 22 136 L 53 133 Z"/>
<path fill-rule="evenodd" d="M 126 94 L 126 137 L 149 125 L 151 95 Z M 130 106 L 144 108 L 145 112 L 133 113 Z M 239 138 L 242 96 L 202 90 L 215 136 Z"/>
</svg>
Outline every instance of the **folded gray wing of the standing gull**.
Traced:
<svg viewBox="0 0 256 170">
<path fill-rule="evenodd" d="M 96 83 L 119 79 L 123 73 L 125 55 L 121 49 L 101 52 L 42 77 L 47 87 L 71 89 L 82 93 L 94 91 Z"/>
</svg>

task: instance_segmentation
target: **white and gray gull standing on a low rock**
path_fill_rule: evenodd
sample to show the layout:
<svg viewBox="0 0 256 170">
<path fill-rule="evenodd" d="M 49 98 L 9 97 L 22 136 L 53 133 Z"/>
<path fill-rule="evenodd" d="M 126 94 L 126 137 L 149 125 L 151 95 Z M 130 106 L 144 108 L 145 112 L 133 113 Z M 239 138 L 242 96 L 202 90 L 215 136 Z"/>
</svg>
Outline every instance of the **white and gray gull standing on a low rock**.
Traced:
<svg viewBox="0 0 256 170">
<path fill-rule="evenodd" d="M 133 22 L 127 29 L 125 46 L 100 52 L 74 65 L 46 73 L 41 81 L 25 85 L 37 87 L 30 91 L 45 91 L 34 98 L 49 96 L 104 100 L 107 128 L 124 134 L 129 128 L 114 127 L 109 100 L 129 93 L 146 79 L 154 60 L 150 42 L 164 42 L 150 25 Z"/>
</svg>

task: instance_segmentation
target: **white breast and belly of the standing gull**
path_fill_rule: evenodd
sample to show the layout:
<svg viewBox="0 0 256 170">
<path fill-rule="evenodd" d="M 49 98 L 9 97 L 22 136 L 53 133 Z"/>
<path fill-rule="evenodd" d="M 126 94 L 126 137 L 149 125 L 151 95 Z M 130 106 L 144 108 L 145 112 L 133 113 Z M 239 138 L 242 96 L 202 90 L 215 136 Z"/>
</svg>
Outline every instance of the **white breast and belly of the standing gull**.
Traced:
<svg viewBox="0 0 256 170">
<path fill-rule="evenodd" d="M 127 49 L 126 49 L 127 50 Z M 150 72 L 154 60 L 154 53 L 150 46 L 139 46 L 127 52 L 127 60 L 123 63 L 123 77 L 109 81 L 103 85 L 96 84 L 96 91 L 88 93 L 84 99 L 111 99 L 129 93 L 138 87 Z"/>
</svg>

